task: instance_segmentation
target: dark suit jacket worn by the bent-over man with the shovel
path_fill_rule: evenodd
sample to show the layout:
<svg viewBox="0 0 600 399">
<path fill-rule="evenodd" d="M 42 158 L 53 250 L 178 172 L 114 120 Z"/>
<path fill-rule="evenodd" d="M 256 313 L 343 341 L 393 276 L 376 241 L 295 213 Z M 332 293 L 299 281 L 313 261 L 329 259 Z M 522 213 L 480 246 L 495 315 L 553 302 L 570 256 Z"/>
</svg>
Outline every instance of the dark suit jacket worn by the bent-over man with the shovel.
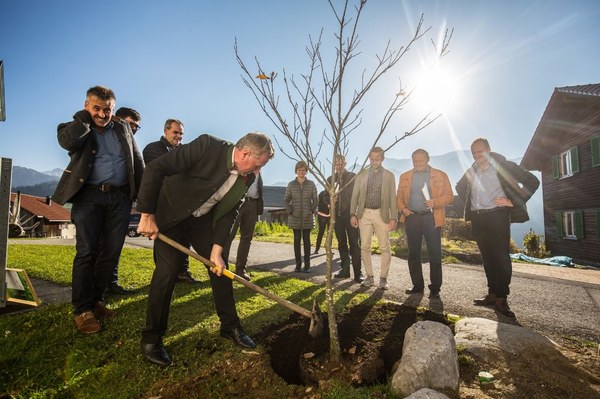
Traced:
<svg viewBox="0 0 600 399">
<path fill-rule="evenodd" d="M 205 134 L 156 158 L 144 171 L 137 211 L 154 214 L 160 230 L 192 216 L 229 178 L 232 149 L 233 144 Z M 246 186 L 253 181 L 251 173 Z M 225 246 L 242 198 L 213 221 L 214 243 Z"/>
</svg>

